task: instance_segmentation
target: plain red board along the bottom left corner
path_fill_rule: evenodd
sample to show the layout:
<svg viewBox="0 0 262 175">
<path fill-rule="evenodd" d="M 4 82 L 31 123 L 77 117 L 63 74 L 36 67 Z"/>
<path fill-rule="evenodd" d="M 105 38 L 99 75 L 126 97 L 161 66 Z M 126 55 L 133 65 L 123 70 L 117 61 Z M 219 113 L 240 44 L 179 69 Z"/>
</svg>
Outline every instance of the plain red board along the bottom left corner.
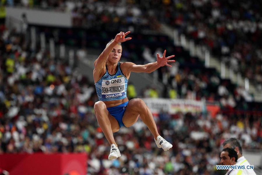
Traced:
<svg viewBox="0 0 262 175">
<path fill-rule="evenodd" d="M 87 154 L 0 154 L 0 169 L 10 175 L 82 175 L 87 173 Z"/>
</svg>

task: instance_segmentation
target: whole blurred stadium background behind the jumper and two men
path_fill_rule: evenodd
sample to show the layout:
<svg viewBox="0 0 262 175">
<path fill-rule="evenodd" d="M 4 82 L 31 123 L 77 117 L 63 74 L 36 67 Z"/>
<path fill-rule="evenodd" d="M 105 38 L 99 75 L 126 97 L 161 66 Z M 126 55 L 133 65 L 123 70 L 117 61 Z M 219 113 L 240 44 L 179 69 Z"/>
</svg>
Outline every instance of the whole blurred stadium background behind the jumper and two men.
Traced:
<svg viewBox="0 0 262 175">
<path fill-rule="evenodd" d="M 58 174 L 225 174 L 215 165 L 229 137 L 240 140 L 243 155 L 262 173 L 261 1 L 0 3 L 3 174 L 54 161 L 37 157 L 43 153 L 80 156 L 75 164 L 83 170 Z M 94 60 L 120 31 L 132 37 L 122 43 L 121 62 L 154 62 L 165 49 L 175 55 L 172 68 L 131 73 L 127 90 L 129 99 L 142 98 L 150 107 L 159 134 L 173 144 L 169 151 L 157 148 L 139 119 L 114 133 L 122 156 L 108 160 L 110 145 L 94 115 L 92 73 Z M 20 155 L 36 157 L 12 164 Z M 56 173 L 47 168 L 33 174 Z"/>
</svg>

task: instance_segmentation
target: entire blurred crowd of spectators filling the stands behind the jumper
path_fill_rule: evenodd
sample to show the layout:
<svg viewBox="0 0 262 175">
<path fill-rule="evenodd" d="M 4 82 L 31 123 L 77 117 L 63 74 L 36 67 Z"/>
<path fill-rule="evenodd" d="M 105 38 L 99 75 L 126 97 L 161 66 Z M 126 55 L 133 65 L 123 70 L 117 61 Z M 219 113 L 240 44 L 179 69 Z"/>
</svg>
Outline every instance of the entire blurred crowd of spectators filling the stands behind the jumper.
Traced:
<svg viewBox="0 0 262 175">
<path fill-rule="evenodd" d="M 259 50 L 259 47 L 254 49 L 256 45 L 250 45 L 248 40 L 257 39 L 253 35 L 259 32 L 255 30 L 252 33 L 251 30 L 242 30 L 241 27 L 232 29 L 231 25 L 234 23 L 230 21 L 238 16 L 238 11 L 227 10 L 231 7 L 245 9 L 246 6 L 255 9 L 253 2 L 232 5 L 231 1 L 222 3 L 194 0 L 189 1 L 191 3 L 173 3 L 168 0 L 131 0 L 126 2 L 129 5 L 140 3 L 140 7 L 132 5 L 125 9 L 121 7 L 124 1 L 119 3 L 119 7 L 112 5 L 112 8 L 110 4 L 108 6 L 102 1 L 94 1 L 93 5 L 88 6 L 87 3 L 91 1 L 7 2 L 21 3 L 29 7 L 40 5 L 73 10 L 75 18 L 79 18 L 76 20 L 77 25 L 102 21 L 100 26 L 110 25 L 117 30 L 117 27 L 124 25 L 134 31 L 147 27 L 157 29 L 157 25 L 152 26 L 153 18 L 149 18 L 156 15 L 159 21 L 177 27 L 181 33 L 194 37 L 199 44 L 208 44 L 214 53 L 221 54 L 223 59 L 229 58 L 232 66 L 233 63 L 241 65 L 236 70 L 241 68 L 248 73 L 250 69 L 255 71 L 256 76 L 260 76 L 261 68 L 252 68 L 261 66 L 261 60 L 253 55 L 259 51 L 251 52 Z M 110 2 L 113 4 L 115 1 Z M 151 10 L 148 10 L 149 7 Z M 212 9 L 212 13 L 210 10 L 206 12 L 208 8 Z M 147 14 L 144 11 L 147 11 Z M 252 10 L 249 15 L 250 13 Z M 257 17 L 251 14 L 251 17 L 253 16 Z M 244 27 L 249 26 L 244 25 L 250 21 L 243 20 L 245 18 L 246 16 L 239 15 L 239 19 L 235 20 L 236 26 L 241 21 L 244 22 Z M 222 19 L 228 20 L 221 22 Z M 259 24 L 257 20 L 254 22 Z M 222 110 L 214 117 L 204 111 L 198 114 L 159 113 L 154 116 L 160 134 L 173 144 L 173 148 L 167 152 L 157 148 L 149 129 L 139 119 L 132 127 L 121 128 L 114 133 L 122 156 L 109 161 L 110 145 L 94 116 L 93 106 L 98 98 L 93 81 L 82 76 L 77 67 L 69 66 L 66 59 L 52 59 L 50 52 L 41 50 L 39 46 L 36 50 L 31 50 L 30 42 L 24 34 L 3 26 L 0 32 L 0 153 L 86 152 L 89 174 L 223 174 L 215 170 L 214 165 L 220 161 L 221 145 L 226 138 L 240 139 L 244 149 L 262 149 L 261 115 L 223 112 L 223 109 L 261 111 L 260 104 L 249 104 L 253 101 L 252 95 L 244 88 L 222 80 L 215 70 L 205 69 L 198 58 L 190 57 L 182 48 L 172 46 L 165 37 L 143 38 L 137 35 L 133 37 L 134 43 L 123 44 L 126 50 L 123 50 L 124 57 L 136 63 L 141 63 L 139 58 L 143 58 L 142 63 L 155 61 L 155 53 L 163 53 L 156 43 L 163 41 L 168 44 L 167 55 L 175 54 L 176 62 L 172 69 L 162 67 L 155 71 L 156 76 L 166 85 L 163 92 L 152 87 L 136 92 L 136 87 L 129 85 L 129 99 L 204 98 L 207 101 L 219 101 Z M 232 36 L 228 37 L 228 34 Z M 246 38 L 246 34 L 251 37 Z M 245 39 L 236 40 L 238 35 Z M 228 38 L 235 44 L 231 45 Z M 138 49 L 136 44 L 144 40 L 150 41 L 154 46 L 144 47 L 144 42 L 143 49 Z M 225 50 L 229 52 L 225 53 Z M 249 58 L 252 61 L 248 60 Z"/>
</svg>

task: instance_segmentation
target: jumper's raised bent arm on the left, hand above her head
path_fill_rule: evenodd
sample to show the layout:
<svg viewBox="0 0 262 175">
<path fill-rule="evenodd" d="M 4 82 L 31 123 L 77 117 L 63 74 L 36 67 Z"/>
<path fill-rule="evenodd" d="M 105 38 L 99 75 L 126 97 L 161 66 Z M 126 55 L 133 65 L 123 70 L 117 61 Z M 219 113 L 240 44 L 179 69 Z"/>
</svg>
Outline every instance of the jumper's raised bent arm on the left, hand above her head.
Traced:
<svg viewBox="0 0 262 175">
<path fill-rule="evenodd" d="M 114 46 L 117 43 L 122 43 L 128 40 L 131 40 L 132 38 L 125 38 L 126 35 L 128 35 L 130 33 L 130 31 L 124 33 L 123 31 L 121 31 L 120 33 L 118 33 L 115 36 L 115 39 L 112 43 L 110 43 L 104 50 L 103 52 L 99 55 L 99 57 L 95 60 L 94 62 L 94 69 L 95 70 L 100 70 L 103 68 L 105 61 L 108 58 L 109 53 L 112 51 L 112 49 L 114 48 Z"/>
</svg>

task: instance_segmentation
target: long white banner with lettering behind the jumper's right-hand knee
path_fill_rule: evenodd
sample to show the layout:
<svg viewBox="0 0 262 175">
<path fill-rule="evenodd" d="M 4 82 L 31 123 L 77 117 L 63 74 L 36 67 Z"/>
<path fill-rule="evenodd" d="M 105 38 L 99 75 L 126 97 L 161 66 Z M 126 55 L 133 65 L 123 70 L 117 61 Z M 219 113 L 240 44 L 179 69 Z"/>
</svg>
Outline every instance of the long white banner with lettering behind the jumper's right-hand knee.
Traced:
<svg viewBox="0 0 262 175">
<path fill-rule="evenodd" d="M 152 99 L 143 98 L 145 104 L 150 108 L 152 113 L 159 113 L 161 111 L 174 114 L 177 112 L 187 113 L 199 113 L 202 112 L 205 106 L 205 102 L 186 99 Z"/>
</svg>

